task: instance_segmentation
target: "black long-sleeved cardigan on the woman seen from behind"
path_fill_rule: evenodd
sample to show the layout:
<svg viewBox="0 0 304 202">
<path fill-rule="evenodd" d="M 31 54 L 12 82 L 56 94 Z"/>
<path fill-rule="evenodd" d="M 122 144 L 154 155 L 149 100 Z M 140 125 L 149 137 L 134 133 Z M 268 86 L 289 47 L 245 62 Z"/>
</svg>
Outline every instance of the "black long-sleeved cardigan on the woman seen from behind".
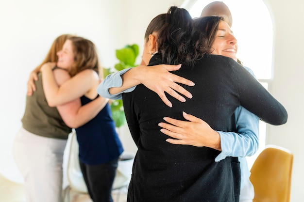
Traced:
<svg viewBox="0 0 304 202">
<path fill-rule="evenodd" d="M 150 61 L 150 65 L 160 63 L 155 57 Z M 170 144 L 157 124 L 165 116 L 185 120 L 185 111 L 214 130 L 228 132 L 235 131 L 233 114 L 240 105 L 275 125 L 286 123 L 287 111 L 247 70 L 224 56 L 205 55 L 193 67 L 183 65 L 172 73 L 195 83 L 182 85 L 192 99 L 182 103 L 167 94 L 173 105 L 169 108 L 144 85 L 123 93 L 127 123 L 138 147 L 128 202 L 238 201 L 237 158 L 215 162 L 218 150 Z"/>
</svg>

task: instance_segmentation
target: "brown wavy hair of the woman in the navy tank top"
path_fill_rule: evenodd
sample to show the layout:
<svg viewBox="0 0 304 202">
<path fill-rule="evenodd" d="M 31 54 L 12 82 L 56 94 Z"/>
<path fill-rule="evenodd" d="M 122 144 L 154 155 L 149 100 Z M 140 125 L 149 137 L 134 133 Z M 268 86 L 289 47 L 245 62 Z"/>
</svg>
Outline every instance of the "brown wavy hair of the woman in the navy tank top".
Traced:
<svg viewBox="0 0 304 202">
<path fill-rule="evenodd" d="M 99 72 L 99 60 L 97 50 L 93 42 L 79 36 L 72 36 L 68 38 L 73 45 L 74 65 L 70 71 L 71 76 L 85 69 L 93 69 Z"/>
</svg>

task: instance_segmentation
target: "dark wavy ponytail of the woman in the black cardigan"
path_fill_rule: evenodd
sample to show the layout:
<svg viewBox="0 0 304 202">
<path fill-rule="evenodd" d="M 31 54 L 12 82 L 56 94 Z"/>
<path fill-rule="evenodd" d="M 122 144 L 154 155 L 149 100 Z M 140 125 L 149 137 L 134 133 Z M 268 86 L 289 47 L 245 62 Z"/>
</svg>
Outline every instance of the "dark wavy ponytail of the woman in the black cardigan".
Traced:
<svg viewBox="0 0 304 202">
<path fill-rule="evenodd" d="M 186 9 L 170 7 L 157 39 L 162 62 L 194 64 L 206 51 L 201 37 L 201 32 L 194 28 L 193 20 Z"/>
</svg>

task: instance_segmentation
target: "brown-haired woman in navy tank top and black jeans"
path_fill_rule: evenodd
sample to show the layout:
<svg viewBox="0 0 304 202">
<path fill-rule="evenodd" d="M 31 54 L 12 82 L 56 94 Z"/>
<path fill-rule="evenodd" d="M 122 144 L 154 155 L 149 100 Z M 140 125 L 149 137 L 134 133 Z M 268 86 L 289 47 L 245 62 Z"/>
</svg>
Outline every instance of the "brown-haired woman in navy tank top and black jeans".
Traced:
<svg viewBox="0 0 304 202">
<path fill-rule="evenodd" d="M 41 68 L 44 92 L 50 106 L 76 98 L 86 105 L 98 98 L 99 61 L 95 45 L 82 37 L 70 37 L 57 53 L 58 63 L 68 63 L 71 78 L 60 87 L 51 74 L 54 63 Z M 83 60 L 85 55 L 87 60 Z M 78 65 L 75 65 L 78 64 Z M 111 190 L 123 152 L 109 104 L 88 123 L 76 128 L 80 167 L 93 202 L 112 202 Z"/>
</svg>

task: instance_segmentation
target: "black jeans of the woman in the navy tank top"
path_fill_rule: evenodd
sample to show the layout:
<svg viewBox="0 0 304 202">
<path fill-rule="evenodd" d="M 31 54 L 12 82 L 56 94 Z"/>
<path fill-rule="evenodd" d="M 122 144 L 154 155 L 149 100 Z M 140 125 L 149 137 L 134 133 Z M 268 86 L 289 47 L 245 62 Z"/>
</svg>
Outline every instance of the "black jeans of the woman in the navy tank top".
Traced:
<svg viewBox="0 0 304 202">
<path fill-rule="evenodd" d="M 100 165 L 87 165 L 79 161 L 87 190 L 93 202 L 113 202 L 111 191 L 118 158 Z"/>
</svg>

